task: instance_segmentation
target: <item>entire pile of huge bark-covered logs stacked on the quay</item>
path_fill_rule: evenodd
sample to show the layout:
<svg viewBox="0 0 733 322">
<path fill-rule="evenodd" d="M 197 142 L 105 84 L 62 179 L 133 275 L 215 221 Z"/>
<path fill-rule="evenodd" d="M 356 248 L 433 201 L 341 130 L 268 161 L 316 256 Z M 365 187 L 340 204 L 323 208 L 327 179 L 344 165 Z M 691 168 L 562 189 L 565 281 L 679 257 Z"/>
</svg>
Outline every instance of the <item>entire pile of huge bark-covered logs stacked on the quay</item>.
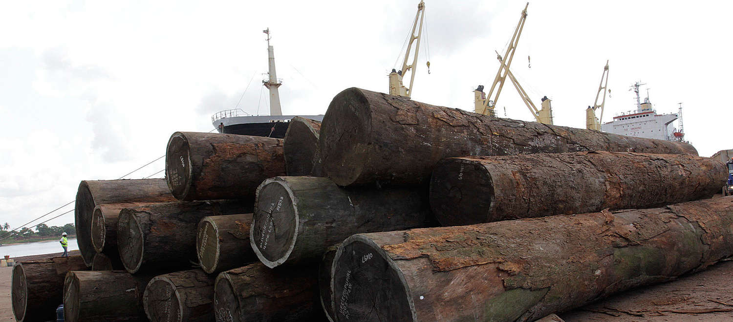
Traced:
<svg viewBox="0 0 733 322">
<path fill-rule="evenodd" d="M 81 265 L 18 266 L 13 310 L 534 321 L 733 255 L 726 174 L 682 142 L 346 89 L 284 139 L 176 132 L 165 179 L 82 181 Z"/>
</svg>

